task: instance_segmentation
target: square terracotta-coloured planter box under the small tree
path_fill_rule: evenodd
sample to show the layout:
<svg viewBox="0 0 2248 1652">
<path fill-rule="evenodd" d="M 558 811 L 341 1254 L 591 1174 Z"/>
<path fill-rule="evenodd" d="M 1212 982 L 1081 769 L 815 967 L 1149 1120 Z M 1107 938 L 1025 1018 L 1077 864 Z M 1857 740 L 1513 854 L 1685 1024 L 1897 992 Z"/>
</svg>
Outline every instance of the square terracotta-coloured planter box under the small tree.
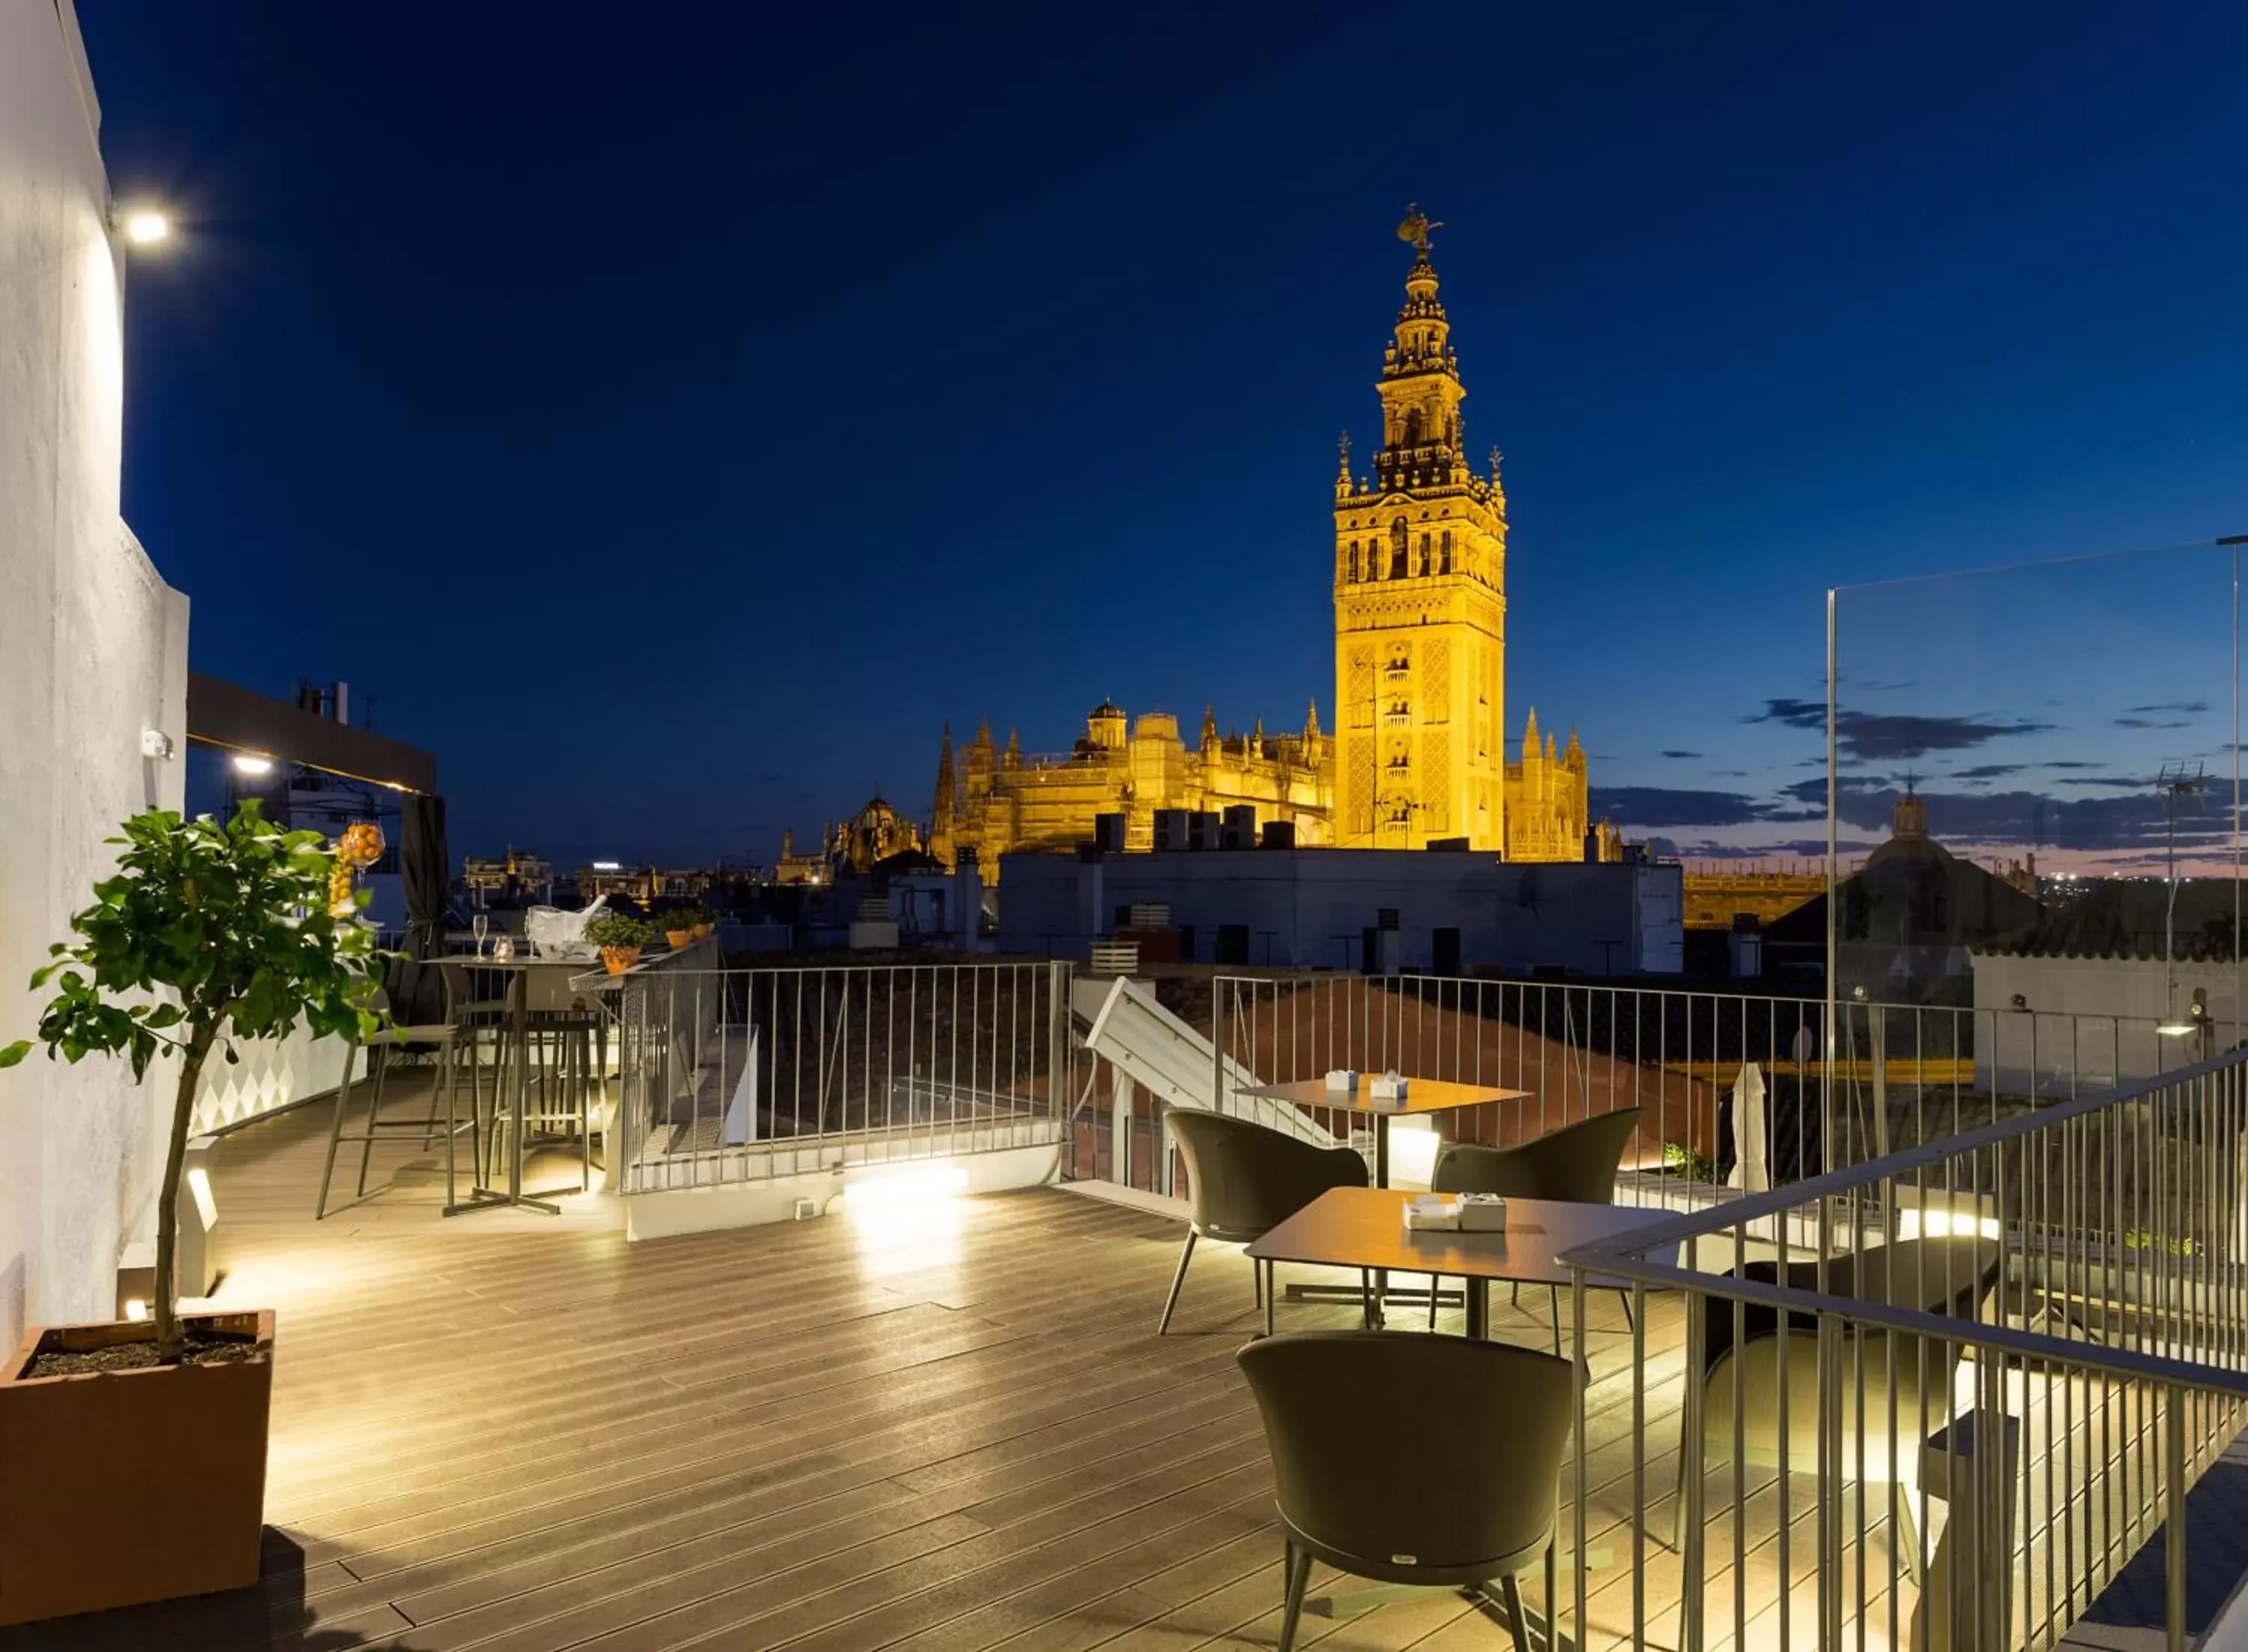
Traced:
<svg viewBox="0 0 2248 1652">
<path fill-rule="evenodd" d="M 139 1342 L 155 1326 L 34 1326 L 0 1369 L 0 1623 L 101 1612 L 259 1580 L 270 1313 L 187 1315 L 256 1333 L 236 1364 L 27 1378 L 45 1349 Z"/>
</svg>

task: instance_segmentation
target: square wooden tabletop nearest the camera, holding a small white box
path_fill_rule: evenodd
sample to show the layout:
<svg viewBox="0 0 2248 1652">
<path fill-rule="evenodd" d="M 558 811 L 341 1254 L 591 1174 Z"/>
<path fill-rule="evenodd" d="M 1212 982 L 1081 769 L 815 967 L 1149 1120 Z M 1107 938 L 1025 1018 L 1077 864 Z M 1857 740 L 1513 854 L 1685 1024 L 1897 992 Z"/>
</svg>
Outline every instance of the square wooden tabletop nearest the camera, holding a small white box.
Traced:
<svg viewBox="0 0 2248 1652">
<path fill-rule="evenodd" d="M 1254 1241 L 1248 1254 L 1259 1261 L 1567 1286 L 1571 1274 L 1553 1256 L 1673 1214 L 1630 1205 L 1511 1198 L 1504 1234 L 1448 1234 L 1407 1229 L 1407 1198 L 1412 1196 L 1394 1187 L 1333 1187 Z"/>
</svg>

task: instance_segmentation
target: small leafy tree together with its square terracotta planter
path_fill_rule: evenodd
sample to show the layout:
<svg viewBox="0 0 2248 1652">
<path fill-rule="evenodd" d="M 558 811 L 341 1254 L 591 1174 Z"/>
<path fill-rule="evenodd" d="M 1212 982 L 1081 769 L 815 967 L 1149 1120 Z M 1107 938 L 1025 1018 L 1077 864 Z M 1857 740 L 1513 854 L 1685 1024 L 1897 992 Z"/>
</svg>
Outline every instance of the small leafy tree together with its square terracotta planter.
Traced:
<svg viewBox="0 0 2248 1652">
<path fill-rule="evenodd" d="M 0 1367 L 0 1623 L 256 1582 L 272 1313 L 178 1310 L 180 1162 L 205 1068 L 297 1025 L 366 1036 L 384 953 L 351 888 L 362 847 L 169 809 L 124 825 L 117 872 L 31 975 L 49 1059 L 178 1059 L 157 1182 L 151 1322 L 31 1326 Z"/>
</svg>

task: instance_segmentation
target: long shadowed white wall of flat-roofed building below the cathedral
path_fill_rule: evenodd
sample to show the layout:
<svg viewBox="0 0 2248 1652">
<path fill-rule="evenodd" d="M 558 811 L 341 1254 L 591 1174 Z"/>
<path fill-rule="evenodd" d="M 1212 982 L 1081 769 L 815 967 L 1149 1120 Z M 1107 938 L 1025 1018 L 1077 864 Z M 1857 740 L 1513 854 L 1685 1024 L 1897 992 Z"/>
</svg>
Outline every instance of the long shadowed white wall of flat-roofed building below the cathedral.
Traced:
<svg viewBox="0 0 2248 1652">
<path fill-rule="evenodd" d="M 1360 933 L 1387 906 L 1403 969 L 1434 964 L 1436 928 L 1461 933 L 1463 969 L 1621 975 L 1682 964 L 1677 865 L 1504 865 L 1423 850 L 1009 854 L 1000 865 L 998 942 L 1009 953 L 1081 957 L 1115 908 L 1164 901 L 1173 924 L 1194 928 L 1200 962 L 1221 924 L 1243 924 L 1250 964 L 1358 969 Z"/>
</svg>

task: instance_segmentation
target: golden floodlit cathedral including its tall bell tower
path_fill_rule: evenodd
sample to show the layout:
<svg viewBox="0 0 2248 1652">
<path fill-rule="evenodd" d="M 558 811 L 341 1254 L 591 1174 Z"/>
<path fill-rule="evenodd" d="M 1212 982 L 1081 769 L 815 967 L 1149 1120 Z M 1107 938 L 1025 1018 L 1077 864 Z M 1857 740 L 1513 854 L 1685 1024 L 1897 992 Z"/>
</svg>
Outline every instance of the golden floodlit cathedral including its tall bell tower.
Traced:
<svg viewBox="0 0 2248 1652">
<path fill-rule="evenodd" d="M 1540 744 L 1531 712 L 1520 762 L 1506 760 L 1506 492 L 1468 463 L 1452 324 L 1436 297 L 1418 211 L 1398 225 L 1412 243 L 1376 393 L 1383 443 L 1374 474 L 1351 472 L 1349 438 L 1335 474 L 1335 735 L 1313 712 L 1302 735 L 1221 737 L 1203 717 L 1198 748 L 1178 719 L 1146 712 L 1126 733 L 1102 704 L 1077 748 L 1023 757 L 1016 737 L 994 751 L 991 728 L 937 762 L 928 850 L 946 865 L 973 847 L 987 881 L 1012 850 L 1070 850 L 1102 814 L 1124 816 L 1124 845 L 1153 845 L 1158 809 L 1221 811 L 1257 805 L 1259 825 L 1284 820 L 1299 845 L 1418 850 L 1463 841 L 1508 861 L 1621 859 L 1592 823 L 1585 748 L 1576 733 Z"/>
</svg>

